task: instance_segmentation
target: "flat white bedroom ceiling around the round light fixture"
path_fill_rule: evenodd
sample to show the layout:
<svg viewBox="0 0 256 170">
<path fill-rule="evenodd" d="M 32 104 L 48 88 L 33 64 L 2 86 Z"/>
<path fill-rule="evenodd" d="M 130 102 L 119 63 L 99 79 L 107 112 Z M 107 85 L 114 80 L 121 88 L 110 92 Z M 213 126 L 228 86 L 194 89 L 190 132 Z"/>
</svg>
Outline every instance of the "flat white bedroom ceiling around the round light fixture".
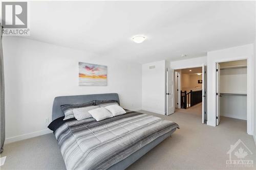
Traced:
<svg viewBox="0 0 256 170">
<path fill-rule="evenodd" d="M 254 1 L 33 1 L 30 17 L 25 38 L 139 63 L 206 56 L 255 37 Z M 137 34 L 147 39 L 131 41 Z"/>
</svg>

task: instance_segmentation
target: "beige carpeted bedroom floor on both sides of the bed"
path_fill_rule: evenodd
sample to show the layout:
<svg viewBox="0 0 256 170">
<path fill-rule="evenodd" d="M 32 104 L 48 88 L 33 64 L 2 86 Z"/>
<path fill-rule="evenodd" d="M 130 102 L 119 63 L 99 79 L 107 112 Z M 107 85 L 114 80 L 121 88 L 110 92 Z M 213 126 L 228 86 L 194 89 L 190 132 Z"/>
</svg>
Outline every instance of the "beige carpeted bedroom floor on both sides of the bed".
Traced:
<svg viewBox="0 0 256 170">
<path fill-rule="evenodd" d="M 227 152 L 230 144 L 238 139 L 254 154 L 246 158 L 255 163 L 256 148 L 252 136 L 246 133 L 246 121 L 221 117 L 220 126 L 207 126 L 201 124 L 199 106 L 190 108 L 189 112 L 179 109 L 170 116 L 140 111 L 172 120 L 180 129 L 127 169 L 234 169 L 226 167 Z M 53 134 L 6 144 L 3 156 L 7 158 L 1 169 L 66 168 Z M 256 164 L 249 169 L 255 167 Z"/>
</svg>

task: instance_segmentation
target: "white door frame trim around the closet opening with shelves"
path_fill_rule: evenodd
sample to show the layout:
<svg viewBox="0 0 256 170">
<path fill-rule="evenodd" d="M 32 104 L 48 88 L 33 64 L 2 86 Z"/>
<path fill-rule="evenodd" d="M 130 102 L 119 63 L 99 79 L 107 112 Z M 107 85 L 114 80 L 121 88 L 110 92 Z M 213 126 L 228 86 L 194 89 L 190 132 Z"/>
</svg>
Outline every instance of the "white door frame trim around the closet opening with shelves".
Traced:
<svg viewBox="0 0 256 170">
<path fill-rule="evenodd" d="M 215 64 L 214 64 L 214 68 L 215 70 L 217 69 L 217 63 L 221 63 L 221 62 L 228 62 L 228 61 L 238 61 L 238 60 L 247 60 L 247 134 L 249 135 L 252 135 L 252 130 L 253 130 L 253 124 L 252 124 L 252 121 L 253 121 L 253 114 L 252 114 L 252 99 L 253 99 L 253 81 L 252 81 L 252 76 L 253 76 L 253 65 L 252 65 L 252 57 L 251 56 L 244 56 L 244 57 L 241 57 L 241 58 L 232 58 L 232 59 L 218 59 L 218 60 L 215 60 Z M 215 78 L 214 80 L 216 81 L 217 80 L 217 75 L 214 74 Z M 214 83 L 214 90 L 215 92 L 217 91 L 217 83 L 215 82 Z M 217 123 L 217 111 L 216 111 L 217 108 L 217 95 L 215 95 L 215 123 Z"/>
</svg>

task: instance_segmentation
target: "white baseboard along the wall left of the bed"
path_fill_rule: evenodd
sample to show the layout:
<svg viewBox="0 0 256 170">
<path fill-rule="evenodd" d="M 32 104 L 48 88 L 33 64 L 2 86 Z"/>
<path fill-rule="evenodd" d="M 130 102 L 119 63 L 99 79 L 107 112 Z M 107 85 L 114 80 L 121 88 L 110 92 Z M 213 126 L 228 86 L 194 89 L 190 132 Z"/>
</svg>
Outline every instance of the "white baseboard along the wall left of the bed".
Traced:
<svg viewBox="0 0 256 170">
<path fill-rule="evenodd" d="M 23 135 L 9 137 L 9 138 L 5 139 L 5 144 L 24 140 L 24 139 L 29 139 L 29 138 L 36 137 L 36 136 L 45 135 L 48 133 L 52 133 L 52 131 L 49 129 L 45 129 L 45 130 L 41 130 L 41 131 L 36 131 L 36 132 L 31 132 L 31 133 L 27 133 L 27 134 L 23 134 Z"/>
</svg>

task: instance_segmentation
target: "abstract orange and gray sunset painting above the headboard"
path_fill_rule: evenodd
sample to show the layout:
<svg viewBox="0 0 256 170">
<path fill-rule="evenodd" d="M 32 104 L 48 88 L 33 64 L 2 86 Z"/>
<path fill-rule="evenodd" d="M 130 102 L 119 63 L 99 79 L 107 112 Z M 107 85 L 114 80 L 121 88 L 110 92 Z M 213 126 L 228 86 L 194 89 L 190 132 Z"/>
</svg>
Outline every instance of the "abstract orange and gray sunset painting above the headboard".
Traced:
<svg viewBox="0 0 256 170">
<path fill-rule="evenodd" d="M 106 86 L 107 66 L 79 62 L 79 86 Z"/>
</svg>

